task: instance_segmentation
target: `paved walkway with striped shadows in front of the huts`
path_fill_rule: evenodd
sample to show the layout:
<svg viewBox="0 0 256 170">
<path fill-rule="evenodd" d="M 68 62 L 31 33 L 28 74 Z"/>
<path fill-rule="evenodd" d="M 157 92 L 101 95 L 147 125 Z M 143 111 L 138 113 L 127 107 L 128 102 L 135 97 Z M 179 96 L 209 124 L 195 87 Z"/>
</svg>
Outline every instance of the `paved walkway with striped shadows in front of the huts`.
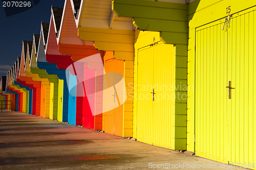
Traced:
<svg viewBox="0 0 256 170">
<path fill-rule="evenodd" d="M 161 164 L 168 169 L 234 169 L 47 118 L 0 112 L 0 169 L 159 169 L 153 167 Z"/>
</svg>

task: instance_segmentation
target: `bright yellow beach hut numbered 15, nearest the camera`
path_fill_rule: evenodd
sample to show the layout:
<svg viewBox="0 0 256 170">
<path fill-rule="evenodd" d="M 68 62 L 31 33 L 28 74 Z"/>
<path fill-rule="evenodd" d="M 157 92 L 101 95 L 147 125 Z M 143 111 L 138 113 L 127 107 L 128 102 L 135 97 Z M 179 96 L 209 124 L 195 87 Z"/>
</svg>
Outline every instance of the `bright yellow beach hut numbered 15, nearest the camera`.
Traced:
<svg viewBox="0 0 256 170">
<path fill-rule="evenodd" d="M 256 161 L 255 10 L 251 0 L 201 0 L 189 15 L 187 150 L 248 168 Z"/>
</svg>

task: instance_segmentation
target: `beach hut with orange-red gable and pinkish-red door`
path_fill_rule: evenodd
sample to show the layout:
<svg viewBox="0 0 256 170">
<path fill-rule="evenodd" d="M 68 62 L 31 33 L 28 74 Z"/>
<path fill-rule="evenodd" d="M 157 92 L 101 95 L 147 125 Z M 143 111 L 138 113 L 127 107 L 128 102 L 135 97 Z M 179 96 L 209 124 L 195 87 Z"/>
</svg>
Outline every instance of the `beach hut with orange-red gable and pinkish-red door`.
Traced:
<svg viewBox="0 0 256 170">
<path fill-rule="evenodd" d="M 57 29 L 55 29 L 58 31 L 56 37 L 58 50 L 61 54 L 70 55 L 71 59 L 75 61 L 73 65 L 68 65 L 68 69 L 71 69 L 70 75 L 73 74 L 77 78 L 76 84 L 70 84 L 69 86 L 70 91 L 71 87 L 77 90 L 72 92 L 77 99 L 76 125 L 82 125 L 93 130 L 101 130 L 103 81 L 100 76 L 103 75 L 102 57 L 104 52 L 98 51 L 93 46 L 93 42 L 83 42 L 77 36 L 74 11 L 75 15 L 78 16 L 77 10 L 79 7 L 80 1 L 66 1 L 61 22 L 54 22 L 58 23 L 58 26 L 56 25 Z M 54 16 L 54 13 L 52 15 Z M 55 30 L 51 30 L 54 36 L 56 35 Z M 93 58 L 92 56 L 96 54 L 98 56 Z"/>
</svg>

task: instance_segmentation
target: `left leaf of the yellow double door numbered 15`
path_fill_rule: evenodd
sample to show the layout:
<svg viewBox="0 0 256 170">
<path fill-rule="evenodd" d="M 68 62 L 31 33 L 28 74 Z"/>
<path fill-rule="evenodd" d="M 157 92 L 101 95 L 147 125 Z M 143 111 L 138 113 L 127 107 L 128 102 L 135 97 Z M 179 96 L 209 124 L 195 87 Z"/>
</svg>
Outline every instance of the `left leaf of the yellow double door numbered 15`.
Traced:
<svg viewBox="0 0 256 170">
<path fill-rule="evenodd" d="M 196 31 L 196 155 L 227 161 L 227 32 Z"/>
</svg>

